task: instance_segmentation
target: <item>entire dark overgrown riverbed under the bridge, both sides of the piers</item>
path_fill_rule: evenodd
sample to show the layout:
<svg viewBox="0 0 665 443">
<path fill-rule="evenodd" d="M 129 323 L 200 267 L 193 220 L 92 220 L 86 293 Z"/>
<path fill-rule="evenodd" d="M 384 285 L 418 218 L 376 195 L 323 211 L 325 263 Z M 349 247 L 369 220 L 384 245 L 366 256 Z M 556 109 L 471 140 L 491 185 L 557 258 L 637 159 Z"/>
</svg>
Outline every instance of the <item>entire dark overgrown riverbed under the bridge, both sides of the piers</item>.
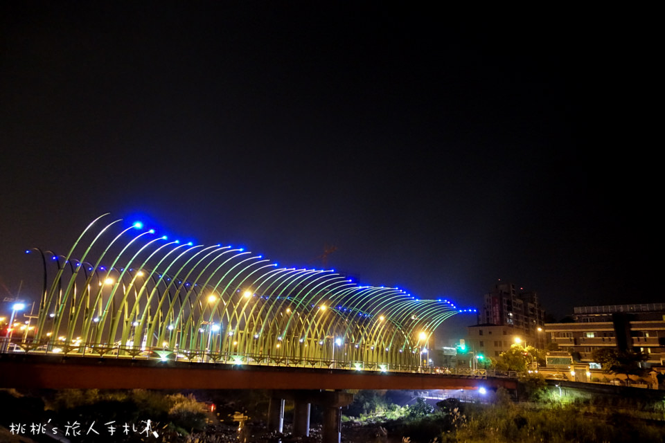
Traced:
<svg viewBox="0 0 665 443">
<path fill-rule="evenodd" d="M 571 386 L 542 386 L 539 380 L 522 383 L 520 401 L 499 388 L 487 392 L 484 402 L 456 398 L 426 400 L 413 391 L 355 391 L 353 404 L 343 408 L 343 442 L 360 443 L 628 443 L 665 441 L 665 401 L 659 391 L 622 390 L 599 393 Z M 477 399 L 481 397 L 476 397 Z M 206 399 L 206 401 L 202 401 Z M 26 424 L 22 437 L 33 437 L 30 424 L 65 426 L 78 422 L 82 435 L 73 442 L 169 441 L 248 443 L 292 438 L 285 414 L 285 434 L 267 433 L 266 392 L 151 392 L 145 390 L 62 390 L 51 392 L 0 391 L 6 406 L 0 425 Z M 211 408 L 214 406 L 214 408 Z M 212 412 L 214 409 L 214 413 Z M 238 428 L 234 411 L 247 415 Z M 318 412 L 317 412 L 318 411 Z M 151 420 L 159 437 L 143 433 Z M 312 406 L 310 437 L 321 438 L 320 410 Z M 107 424 L 114 422 L 116 433 Z M 131 424 L 123 432 L 123 424 Z M 99 435 L 85 435 L 93 426 Z M 242 428 L 242 426 L 240 426 Z M 135 430 L 134 430 L 135 428 Z M 16 436 L 18 437 L 18 436 Z M 242 438 L 241 438 L 242 437 Z M 247 439 L 247 440 L 245 440 Z M 0 440 L 2 440 L 0 438 Z M 15 440 L 18 441 L 18 440 Z M 28 441 L 28 440 L 21 440 Z M 37 441 L 37 440 L 35 440 Z M 295 440 L 294 440 L 295 441 Z"/>
</svg>

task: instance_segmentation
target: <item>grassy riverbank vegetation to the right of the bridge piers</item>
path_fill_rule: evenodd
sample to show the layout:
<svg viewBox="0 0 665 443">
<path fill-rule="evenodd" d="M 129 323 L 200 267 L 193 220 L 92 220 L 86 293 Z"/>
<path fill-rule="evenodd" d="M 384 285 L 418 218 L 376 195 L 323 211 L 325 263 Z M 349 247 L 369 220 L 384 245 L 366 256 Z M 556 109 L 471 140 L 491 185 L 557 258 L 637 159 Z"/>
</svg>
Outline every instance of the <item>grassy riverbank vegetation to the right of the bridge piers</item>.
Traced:
<svg viewBox="0 0 665 443">
<path fill-rule="evenodd" d="M 394 407 L 379 406 L 375 413 L 347 417 L 375 431 L 356 433 L 366 443 L 623 443 L 664 442 L 665 410 L 660 402 L 601 397 L 571 401 L 515 402 L 499 390 L 488 404 L 439 401 L 432 412 L 424 401 L 400 408 L 401 417 L 390 418 Z M 418 411 L 418 412 L 416 412 Z M 645 418 L 648 417 L 648 418 Z M 353 426 L 351 426 L 353 429 Z M 353 440 L 355 441 L 355 440 Z M 361 441 L 361 440 L 357 440 Z"/>
</svg>

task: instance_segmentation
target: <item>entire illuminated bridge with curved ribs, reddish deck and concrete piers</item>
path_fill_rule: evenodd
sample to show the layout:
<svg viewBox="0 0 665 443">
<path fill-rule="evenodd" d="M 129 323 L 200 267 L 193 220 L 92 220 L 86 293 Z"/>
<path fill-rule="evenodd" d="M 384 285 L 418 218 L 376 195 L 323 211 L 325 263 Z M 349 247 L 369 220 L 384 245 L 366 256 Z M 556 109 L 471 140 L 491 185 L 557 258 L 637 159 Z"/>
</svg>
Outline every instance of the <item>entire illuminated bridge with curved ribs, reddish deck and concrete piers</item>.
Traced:
<svg viewBox="0 0 665 443">
<path fill-rule="evenodd" d="M 38 316 L 2 343 L 5 387 L 477 388 L 423 373 L 436 327 L 474 311 L 448 300 L 179 242 L 109 215 L 67 255 L 26 253 L 39 257 L 43 287 Z M 325 400 L 337 415 L 342 397 Z M 333 426 L 336 415 L 326 417 Z"/>
</svg>

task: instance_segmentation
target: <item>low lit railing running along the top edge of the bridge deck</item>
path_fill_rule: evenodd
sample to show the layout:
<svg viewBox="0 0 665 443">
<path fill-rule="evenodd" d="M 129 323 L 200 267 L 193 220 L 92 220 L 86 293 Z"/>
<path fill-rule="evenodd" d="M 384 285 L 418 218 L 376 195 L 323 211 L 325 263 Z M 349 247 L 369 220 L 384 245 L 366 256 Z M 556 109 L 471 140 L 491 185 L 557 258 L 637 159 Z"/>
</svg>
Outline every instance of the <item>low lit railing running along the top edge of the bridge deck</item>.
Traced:
<svg viewBox="0 0 665 443">
<path fill-rule="evenodd" d="M 139 347 L 119 344 L 90 344 L 80 341 L 40 341 L 0 338 L 3 354 L 84 356 L 102 359 L 134 359 L 158 361 L 185 361 L 188 363 L 217 363 L 227 365 L 265 365 L 294 368 L 319 368 L 339 370 L 363 370 L 377 372 L 411 372 L 420 374 L 451 375 L 456 377 L 509 377 L 495 370 L 471 368 L 441 368 L 435 366 L 399 365 L 374 361 L 339 361 L 311 357 L 282 356 L 275 354 L 242 352 L 207 352 L 205 350 L 170 349 L 168 347 Z"/>
</svg>

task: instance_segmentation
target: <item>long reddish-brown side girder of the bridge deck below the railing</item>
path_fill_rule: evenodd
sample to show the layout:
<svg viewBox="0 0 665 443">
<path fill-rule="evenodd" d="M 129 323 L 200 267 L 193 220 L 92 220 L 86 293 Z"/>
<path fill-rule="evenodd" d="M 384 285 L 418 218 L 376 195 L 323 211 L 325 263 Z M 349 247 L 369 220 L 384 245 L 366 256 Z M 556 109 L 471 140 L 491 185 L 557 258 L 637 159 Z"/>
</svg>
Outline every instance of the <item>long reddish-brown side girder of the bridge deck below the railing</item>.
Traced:
<svg viewBox="0 0 665 443">
<path fill-rule="evenodd" d="M 99 389 L 469 389 L 504 386 L 502 378 L 321 370 L 89 357 L 3 355 L 1 388 Z"/>
</svg>

